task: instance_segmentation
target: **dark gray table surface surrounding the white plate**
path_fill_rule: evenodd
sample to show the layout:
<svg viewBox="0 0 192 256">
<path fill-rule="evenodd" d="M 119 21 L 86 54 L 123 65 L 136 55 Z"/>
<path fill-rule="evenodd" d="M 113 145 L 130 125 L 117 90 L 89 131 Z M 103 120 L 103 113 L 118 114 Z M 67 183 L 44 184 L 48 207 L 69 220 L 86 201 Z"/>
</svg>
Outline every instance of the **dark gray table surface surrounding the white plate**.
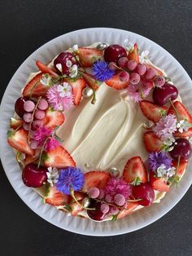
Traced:
<svg viewBox="0 0 192 256">
<path fill-rule="evenodd" d="M 39 46 L 72 30 L 113 27 L 159 43 L 192 74 L 192 2 L 0 1 L 0 95 Z M 1 131 L 0 131 L 1 132 Z M 188 170 L 192 171 L 192 170 Z M 192 188 L 163 218 L 123 236 L 65 232 L 24 205 L 0 166 L 0 255 L 192 255 Z"/>
</svg>

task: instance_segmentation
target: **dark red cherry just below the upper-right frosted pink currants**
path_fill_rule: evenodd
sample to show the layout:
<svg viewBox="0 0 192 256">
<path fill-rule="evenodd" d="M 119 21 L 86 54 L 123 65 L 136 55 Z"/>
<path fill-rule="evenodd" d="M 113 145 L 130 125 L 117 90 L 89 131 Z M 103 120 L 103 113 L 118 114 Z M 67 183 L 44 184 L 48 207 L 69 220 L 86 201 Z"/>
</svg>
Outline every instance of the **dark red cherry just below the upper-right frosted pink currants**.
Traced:
<svg viewBox="0 0 192 256">
<path fill-rule="evenodd" d="M 178 90 L 176 86 L 172 86 L 169 83 L 165 83 L 161 88 L 155 87 L 153 90 L 153 100 L 155 104 L 163 106 L 168 103 L 168 100 L 174 100 L 178 97 Z"/>
</svg>

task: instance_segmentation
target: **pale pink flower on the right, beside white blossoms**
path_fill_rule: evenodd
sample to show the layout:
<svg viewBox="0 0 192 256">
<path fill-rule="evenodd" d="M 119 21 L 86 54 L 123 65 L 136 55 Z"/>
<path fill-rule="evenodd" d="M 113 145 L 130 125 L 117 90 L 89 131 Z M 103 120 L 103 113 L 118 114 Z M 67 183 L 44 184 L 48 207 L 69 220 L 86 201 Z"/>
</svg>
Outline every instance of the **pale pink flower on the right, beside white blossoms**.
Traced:
<svg viewBox="0 0 192 256">
<path fill-rule="evenodd" d="M 168 116 L 161 117 L 161 119 L 155 124 L 153 130 L 159 138 L 166 140 L 177 130 L 176 124 L 176 116 L 169 114 Z"/>
</svg>

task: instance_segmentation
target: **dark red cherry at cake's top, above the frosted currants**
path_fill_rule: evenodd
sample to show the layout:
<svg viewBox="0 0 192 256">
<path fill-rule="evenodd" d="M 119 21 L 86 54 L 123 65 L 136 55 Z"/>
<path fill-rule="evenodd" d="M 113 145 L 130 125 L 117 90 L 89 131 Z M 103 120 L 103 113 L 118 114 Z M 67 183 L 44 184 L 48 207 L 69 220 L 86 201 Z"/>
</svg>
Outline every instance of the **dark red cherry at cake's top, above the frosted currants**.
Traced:
<svg viewBox="0 0 192 256">
<path fill-rule="evenodd" d="M 116 62 L 120 57 L 126 57 L 127 53 L 124 47 L 111 45 L 104 51 L 104 60 L 107 62 Z"/>
</svg>

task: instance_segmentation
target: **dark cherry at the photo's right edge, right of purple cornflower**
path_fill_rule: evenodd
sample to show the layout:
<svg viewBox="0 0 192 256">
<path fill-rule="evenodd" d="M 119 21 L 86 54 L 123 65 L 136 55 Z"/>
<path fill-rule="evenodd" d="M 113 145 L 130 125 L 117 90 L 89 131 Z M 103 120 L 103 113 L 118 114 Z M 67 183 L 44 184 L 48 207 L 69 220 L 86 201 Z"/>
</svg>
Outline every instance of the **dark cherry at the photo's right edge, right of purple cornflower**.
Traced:
<svg viewBox="0 0 192 256">
<path fill-rule="evenodd" d="M 176 139 L 174 148 L 170 151 L 172 158 L 178 159 L 181 157 L 182 160 L 188 160 L 191 157 L 192 150 L 188 139 Z"/>
</svg>

